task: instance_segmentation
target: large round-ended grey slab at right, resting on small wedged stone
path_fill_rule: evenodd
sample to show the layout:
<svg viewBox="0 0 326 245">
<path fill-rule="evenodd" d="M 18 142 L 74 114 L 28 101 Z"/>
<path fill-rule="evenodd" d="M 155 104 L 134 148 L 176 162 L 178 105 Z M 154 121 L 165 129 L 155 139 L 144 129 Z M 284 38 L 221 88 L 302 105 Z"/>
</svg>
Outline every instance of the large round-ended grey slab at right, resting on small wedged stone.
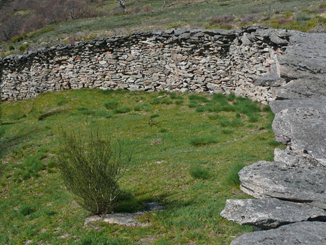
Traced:
<svg viewBox="0 0 326 245">
<path fill-rule="evenodd" d="M 288 108 L 273 121 L 276 140 L 326 166 L 326 106 Z"/>
</svg>

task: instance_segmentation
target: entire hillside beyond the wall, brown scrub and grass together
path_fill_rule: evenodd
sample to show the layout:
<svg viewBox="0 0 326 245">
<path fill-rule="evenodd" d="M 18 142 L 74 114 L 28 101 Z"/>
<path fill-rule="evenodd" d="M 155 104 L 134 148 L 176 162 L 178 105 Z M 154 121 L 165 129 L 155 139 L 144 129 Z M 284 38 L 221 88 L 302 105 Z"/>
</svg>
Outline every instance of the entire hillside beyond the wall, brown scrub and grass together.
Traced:
<svg viewBox="0 0 326 245">
<path fill-rule="evenodd" d="M 223 28 L 263 25 L 325 32 L 320 0 L 1 0 L 1 56 L 58 43 L 155 28 Z"/>
</svg>

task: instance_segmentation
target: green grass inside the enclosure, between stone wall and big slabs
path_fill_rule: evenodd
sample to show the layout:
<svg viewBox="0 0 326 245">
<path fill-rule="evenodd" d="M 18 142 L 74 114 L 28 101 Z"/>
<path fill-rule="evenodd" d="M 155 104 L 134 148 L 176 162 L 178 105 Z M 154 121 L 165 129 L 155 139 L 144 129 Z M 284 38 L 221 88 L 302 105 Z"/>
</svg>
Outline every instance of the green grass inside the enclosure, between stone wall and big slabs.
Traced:
<svg viewBox="0 0 326 245">
<path fill-rule="evenodd" d="M 227 198 L 248 198 L 234 176 L 284 147 L 271 110 L 233 94 L 69 90 L 1 110 L 0 244 L 230 244 L 252 230 L 219 215 Z M 116 212 L 166 205 L 146 214 L 152 226 L 83 226 L 54 167 L 60 125 L 108 130 L 133 151 Z"/>
</svg>

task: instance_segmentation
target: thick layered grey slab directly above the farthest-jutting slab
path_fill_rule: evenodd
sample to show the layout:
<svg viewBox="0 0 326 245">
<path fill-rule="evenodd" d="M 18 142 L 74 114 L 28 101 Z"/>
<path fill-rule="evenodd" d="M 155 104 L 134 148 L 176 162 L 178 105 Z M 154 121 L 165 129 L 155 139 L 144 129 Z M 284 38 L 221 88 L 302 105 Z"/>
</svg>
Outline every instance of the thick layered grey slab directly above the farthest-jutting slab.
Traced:
<svg viewBox="0 0 326 245">
<path fill-rule="evenodd" d="M 326 168 L 260 161 L 239 171 L 240 189 L 255 198 L 279 198 L 326 209 Z"/>
</svg>

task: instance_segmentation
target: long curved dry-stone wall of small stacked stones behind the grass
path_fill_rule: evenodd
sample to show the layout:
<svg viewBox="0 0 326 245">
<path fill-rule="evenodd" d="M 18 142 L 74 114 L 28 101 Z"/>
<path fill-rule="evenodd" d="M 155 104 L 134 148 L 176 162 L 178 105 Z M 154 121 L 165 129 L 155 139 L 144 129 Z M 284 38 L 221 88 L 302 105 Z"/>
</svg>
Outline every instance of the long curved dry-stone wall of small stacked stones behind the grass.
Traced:
<svg viewBox="0 0 326 245">
<path fill-rule="evenodd" d="M 268 101 L 271 87 L 279 85 L 274 83 L 277 56 L 288 36 L 262 27 L 171 29 L 60 44 L 0 59 L 1 97 L 15 101 L 47 91 L 98 87 L 234 92 Z"/>
</svg>

